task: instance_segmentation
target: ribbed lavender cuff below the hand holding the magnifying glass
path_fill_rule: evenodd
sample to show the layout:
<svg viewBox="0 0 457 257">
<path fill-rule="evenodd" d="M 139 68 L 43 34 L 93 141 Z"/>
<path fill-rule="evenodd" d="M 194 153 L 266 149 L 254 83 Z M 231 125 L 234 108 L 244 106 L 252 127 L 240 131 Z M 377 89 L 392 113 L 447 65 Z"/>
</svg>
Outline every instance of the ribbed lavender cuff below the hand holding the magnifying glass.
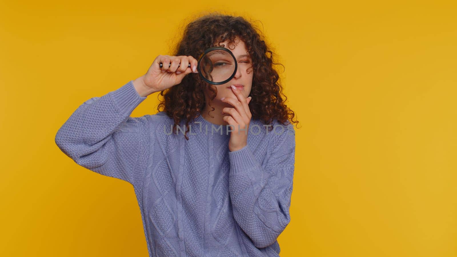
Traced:
<svg viewBox="0 0 457 257">
<path fill-rule="evenodd" d="M 123 85 L 119 89 L 109 92 L 108 94 L 116 104 L 117 110 L 121 113 L 128 114 L 130 114 L 141 102 L 143 102 L 143 100 L 146 99 L 146 96 L 138 94 L 137 90 L 133 86 L 133 80 L 130 80 L 127 84 Z"/>
</svg>

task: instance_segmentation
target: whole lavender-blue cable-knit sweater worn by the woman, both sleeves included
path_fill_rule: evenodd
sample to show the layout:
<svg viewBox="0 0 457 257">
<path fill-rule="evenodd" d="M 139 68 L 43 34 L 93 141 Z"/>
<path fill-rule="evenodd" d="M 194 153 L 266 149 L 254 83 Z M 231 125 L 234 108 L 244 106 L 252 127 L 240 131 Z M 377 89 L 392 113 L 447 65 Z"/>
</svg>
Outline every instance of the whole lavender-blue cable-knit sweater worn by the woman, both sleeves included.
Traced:
<svg viewBox="0 0 457 257">
<path fill-rule="evenodd" d="M 291 218 L 293 126 L 275 120 L 275 133 L 251 120 L 248 144 L 230 152 L 227 127 L 201 115 L 188 141 L 170 133 L 163 111 L 130 117 L 144 99 L 129 81 L 85 101 L 57 131 L 57 146 L 133 185 L 151 257 L 279 256 L 276 239 Z"/>
</svg>

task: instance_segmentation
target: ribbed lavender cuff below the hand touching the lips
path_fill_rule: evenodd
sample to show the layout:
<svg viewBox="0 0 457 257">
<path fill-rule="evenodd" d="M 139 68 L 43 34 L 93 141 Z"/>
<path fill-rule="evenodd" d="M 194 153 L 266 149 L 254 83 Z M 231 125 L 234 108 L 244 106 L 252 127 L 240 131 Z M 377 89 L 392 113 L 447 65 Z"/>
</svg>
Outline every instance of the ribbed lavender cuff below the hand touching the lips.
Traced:
<svg viewBox="0 0 457 257">
<path fill-rule="evenodd" d="M 246 145 L 237 151 L 228 152 L 228 159 L 230 161 L 230 173 L 232 174 L 251 171 L 260 167 L 260 164 L 252 154 L 249 145 Z"/>
</svg>

